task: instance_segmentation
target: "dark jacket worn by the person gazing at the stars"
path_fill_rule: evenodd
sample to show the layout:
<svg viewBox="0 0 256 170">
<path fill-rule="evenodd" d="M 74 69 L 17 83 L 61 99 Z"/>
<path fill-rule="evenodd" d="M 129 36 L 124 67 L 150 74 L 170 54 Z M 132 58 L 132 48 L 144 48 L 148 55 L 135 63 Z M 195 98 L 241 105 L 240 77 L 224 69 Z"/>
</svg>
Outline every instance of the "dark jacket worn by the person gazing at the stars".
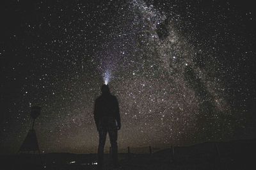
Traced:
<svg viewBox="0 0 256 170">
<path fill-rule="evenodd" d="M 116 128 L 121 126 L 118 101 L 115 96 L 102 94 L 95 100 L 94 105 L 94 120 L 97 130 L 101 128 Z"/>
</svg>

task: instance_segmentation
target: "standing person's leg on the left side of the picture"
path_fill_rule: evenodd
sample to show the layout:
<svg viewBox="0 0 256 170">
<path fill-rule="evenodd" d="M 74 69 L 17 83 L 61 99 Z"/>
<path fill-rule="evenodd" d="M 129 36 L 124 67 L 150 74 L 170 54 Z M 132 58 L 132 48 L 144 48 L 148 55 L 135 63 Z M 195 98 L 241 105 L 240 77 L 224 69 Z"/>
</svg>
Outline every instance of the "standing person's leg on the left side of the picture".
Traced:
<svg viewBox="0 0 256 170">
<path fill-rule="evenodd" d="M 107 130 L 99 130 L 99 146 L 98 146 L 98 169 L 103 167 L 104 146 L 106 143 Z"/>
</svg>

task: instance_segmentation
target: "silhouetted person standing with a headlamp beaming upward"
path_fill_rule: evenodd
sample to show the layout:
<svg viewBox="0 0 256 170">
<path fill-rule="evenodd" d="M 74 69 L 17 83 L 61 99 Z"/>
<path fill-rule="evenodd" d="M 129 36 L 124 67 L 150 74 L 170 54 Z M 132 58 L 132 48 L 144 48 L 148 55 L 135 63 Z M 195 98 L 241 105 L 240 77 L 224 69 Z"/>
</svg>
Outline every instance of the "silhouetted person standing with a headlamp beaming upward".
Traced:
<svg viewBox="0 0 256 170">
<path fill-rule="evenodd" d="M 118 101 L 111 95 L 108 85 L 102 85 L 102 95 L 95 101 L 94 120 L 99 132 L 98 169 L 103 167 L 104 145 L 109 134 L 114 167 L 118 167 L 117 130 L 121 128 Z M 117 123 L 117 125 L 116 125 Z"/>
</svg>

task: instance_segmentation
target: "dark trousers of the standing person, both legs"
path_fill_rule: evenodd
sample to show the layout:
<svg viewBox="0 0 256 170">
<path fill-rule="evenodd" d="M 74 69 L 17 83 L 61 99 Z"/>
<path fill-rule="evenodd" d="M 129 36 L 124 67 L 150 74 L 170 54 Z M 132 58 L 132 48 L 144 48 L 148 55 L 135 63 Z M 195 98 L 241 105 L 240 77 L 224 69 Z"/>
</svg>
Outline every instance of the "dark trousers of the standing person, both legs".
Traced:
<svg viewBox="0 0 256 170">
<path fill-rule="evenodd" d="M 113 158 L 114 166 L 117 166 L 117 129 L 116 130 L 107 130 L 102 129 L 99 130 L 99 147 L 98 147 L 98 169 L 102 169 L 103 166 L 103 158 L 104 158 L 104 146 L 106 143 L 106 137 L 109 134 L 109 139 L 111 143 L 111 153 Z"/>
</svg>

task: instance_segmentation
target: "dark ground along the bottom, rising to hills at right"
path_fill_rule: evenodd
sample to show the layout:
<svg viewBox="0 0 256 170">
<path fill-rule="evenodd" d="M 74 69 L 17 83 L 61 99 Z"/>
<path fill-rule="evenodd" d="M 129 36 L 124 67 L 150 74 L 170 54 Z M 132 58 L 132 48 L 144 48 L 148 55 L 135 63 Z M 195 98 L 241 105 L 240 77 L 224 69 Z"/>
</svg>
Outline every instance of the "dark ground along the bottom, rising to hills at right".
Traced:
<svg viewBox="0 0 256 170">
<path fill-rule="evenodd" d="M 119 153 L 118 169 L 256 169 L 256 139 L 177 146 L 152 154 Z M 97 169 L 97 155 L 47 153 L 1 155 L 1 169 Z M 111 167 L 105 154 L 105 169 Z M 94 163 L 94 164 L 93 164 Z"/>
</svg>

